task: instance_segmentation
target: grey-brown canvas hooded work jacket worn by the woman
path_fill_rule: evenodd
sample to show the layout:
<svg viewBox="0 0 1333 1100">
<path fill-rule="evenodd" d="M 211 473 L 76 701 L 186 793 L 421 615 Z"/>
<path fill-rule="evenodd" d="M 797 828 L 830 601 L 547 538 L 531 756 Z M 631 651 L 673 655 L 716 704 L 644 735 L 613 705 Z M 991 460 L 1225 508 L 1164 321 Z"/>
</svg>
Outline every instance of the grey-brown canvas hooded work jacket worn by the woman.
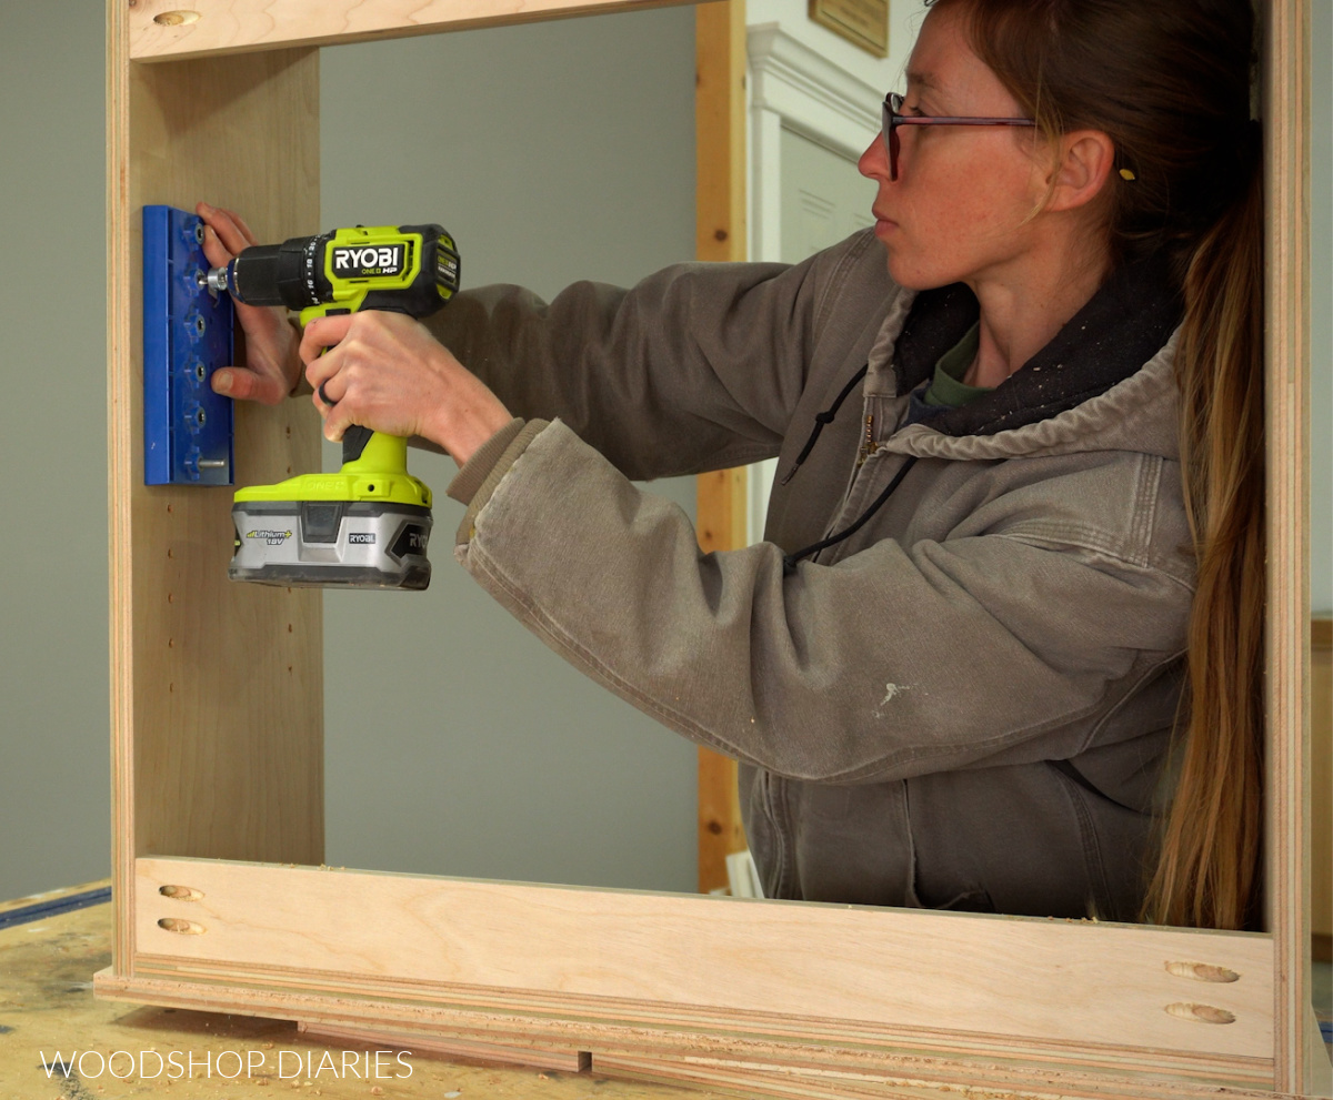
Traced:
<svg viewBox="0 0 1333 1100">
<path fill-rule="evenodd" d="M 1073 408 L 949 434 L 900 426 L 913 300 L 869 233 L 551 305 L 460 296 L 436 334 L 541 419 L 451 486 L 457 558 L 585 674 L 740 760 L 766 896 L 1134 919 L 1193 585 L 1173 340 Z M 769 455 L 782 482 L 866 364 L 764 542 L 701 554 L 631 483 Z M 784 570 L 910 455 L 856 534 Z"/>
</svg>

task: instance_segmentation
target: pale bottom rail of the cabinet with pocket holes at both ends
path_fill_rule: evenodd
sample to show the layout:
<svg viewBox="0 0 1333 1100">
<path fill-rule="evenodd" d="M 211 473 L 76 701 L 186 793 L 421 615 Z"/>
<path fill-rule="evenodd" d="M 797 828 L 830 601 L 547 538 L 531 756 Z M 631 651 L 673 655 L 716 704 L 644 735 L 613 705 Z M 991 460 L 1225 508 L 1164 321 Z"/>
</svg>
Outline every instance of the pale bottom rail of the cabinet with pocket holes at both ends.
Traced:
<svg viewBox="0 0 1333 1100">
<path fill-rule="evenodd" d="M 993 1036 L 1089 1048 L 1097 1036 L 1256 1073 L 1273 1041 L 1262 935 L 215 860 L 141 859 L 137 894 L 144 977 L 264 973 L 305 991 L 681 1025 L 744 1013 L 750 1031 L 789 1016 L 956 1045 Z M 1196 964 L 1236 980 L 1182 969 Z M 1204 1025 L 1170 1008 L 1182 1004 L 1234 1023 Z M 371 1017 L 384 1009 L 369 1005 Z"/>
</svg>

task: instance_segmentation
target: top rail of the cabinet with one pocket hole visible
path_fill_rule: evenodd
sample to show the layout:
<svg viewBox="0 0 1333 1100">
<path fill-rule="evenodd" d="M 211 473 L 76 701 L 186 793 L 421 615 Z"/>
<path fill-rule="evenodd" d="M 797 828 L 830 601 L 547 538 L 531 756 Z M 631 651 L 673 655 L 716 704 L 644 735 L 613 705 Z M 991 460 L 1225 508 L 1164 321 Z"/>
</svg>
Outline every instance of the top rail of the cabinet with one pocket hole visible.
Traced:
<svg viewBox="0 0 1333 1100">
<path fill-rule="evenodd" d="M 544 19 L 664 7 L 681 0 L 123 0 L 140 61 L 335 45 Z M 191 19 L 180 17 L 188 8 Z"/>
</svg>

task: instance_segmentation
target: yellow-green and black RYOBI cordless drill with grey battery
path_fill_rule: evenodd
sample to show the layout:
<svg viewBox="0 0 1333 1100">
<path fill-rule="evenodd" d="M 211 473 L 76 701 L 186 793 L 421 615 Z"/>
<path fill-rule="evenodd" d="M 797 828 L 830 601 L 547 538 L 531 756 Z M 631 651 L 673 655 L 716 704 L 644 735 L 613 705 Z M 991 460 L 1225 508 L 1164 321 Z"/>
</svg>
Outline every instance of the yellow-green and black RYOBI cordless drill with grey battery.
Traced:
<svg viewBox="0 0 1333 1100">
<path fill-rule="evenodd" d="M 356 226 L 255 245 L 208 286 L 247 305 L 316 317 L 383 309 L 427 317 L 459 289 L 459 250 L 439 225 Z M 408 473 L 407 439 L 352 426 L 343 469 L 236 493 L 228 577 L 265 585 L 424 589 L 431 490 Z"/>
</svg>

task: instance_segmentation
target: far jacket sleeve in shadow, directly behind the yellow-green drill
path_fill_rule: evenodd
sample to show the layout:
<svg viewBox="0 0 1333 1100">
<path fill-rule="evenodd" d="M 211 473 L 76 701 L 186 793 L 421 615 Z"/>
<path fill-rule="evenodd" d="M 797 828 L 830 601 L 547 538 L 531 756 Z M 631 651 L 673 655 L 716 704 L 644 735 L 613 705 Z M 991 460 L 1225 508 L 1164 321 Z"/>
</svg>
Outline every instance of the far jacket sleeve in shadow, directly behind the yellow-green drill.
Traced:
<svg viewBox="0 0 1333 1100">
<path fill-rule="evenodd" d="M 517 417 L 559 417 L 629 477 L 724 469 L 777 454 L 845 252 L 678 264 L 549 305 L 487 286 L 427 324 Z"/>
</svg>

